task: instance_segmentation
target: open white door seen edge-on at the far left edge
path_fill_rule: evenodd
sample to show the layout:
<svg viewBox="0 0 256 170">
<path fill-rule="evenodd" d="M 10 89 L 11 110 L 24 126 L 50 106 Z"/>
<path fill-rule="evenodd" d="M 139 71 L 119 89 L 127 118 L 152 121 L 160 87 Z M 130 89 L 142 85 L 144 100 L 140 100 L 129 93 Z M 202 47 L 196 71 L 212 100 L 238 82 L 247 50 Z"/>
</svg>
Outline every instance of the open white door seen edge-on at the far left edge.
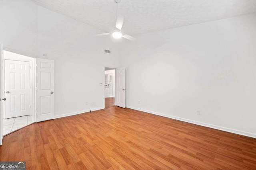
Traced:
<svg viewBox="0 0 256 170">
<path fill-rule="evenodd" d="M 1 67 L 1 72 L 0 72 L 0 145 L 3 144 L 3 137 L 4 137 L 4 100 L 2 100 L 4 93 L 3 93 L 3 86 L 4 86 L 4 72 L 3 72 L 3 61 L 4 61 L 4 54 L 3 54 L 3 45 L 0 44 L 0 67 Z"/>
</svg>

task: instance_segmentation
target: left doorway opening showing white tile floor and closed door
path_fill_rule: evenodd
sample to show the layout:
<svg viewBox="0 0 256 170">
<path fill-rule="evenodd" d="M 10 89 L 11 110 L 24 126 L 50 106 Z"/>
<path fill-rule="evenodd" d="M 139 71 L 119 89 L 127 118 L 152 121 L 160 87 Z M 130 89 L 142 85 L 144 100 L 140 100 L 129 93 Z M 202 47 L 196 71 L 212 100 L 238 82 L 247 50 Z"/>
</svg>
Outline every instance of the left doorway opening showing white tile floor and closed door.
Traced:
<svg viewBox="0 0 256 170">
<path fill-rule="evenodd" d="M 34 122 L 34 58 L 3 51 L 4 135 Z"/>
</svg>

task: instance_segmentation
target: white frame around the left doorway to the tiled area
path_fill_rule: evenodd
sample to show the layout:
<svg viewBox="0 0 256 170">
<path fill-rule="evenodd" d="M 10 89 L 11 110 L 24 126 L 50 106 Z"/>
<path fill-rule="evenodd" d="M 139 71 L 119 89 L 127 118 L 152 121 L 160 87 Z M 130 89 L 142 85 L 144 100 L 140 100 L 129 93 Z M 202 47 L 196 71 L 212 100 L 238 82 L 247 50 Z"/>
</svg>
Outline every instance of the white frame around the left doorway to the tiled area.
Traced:
<svg viewBox="0 0 256 170">
<path fill-rule="evenodd" d="M 5 51 L 7 52 L 10 52 L 10 53 L 14 53 L 17 56 L 8 56 L 6 57 L 6 55 L 3 56 L 3 70 L 4 70 L 4 73 L 3 73 L 3 81 L 2 84 L 3 84 L 3 87 L 2 87 L 2 90 L 3 90 L 3 98 L 5 97 L 5 60 L 14 60 L 14 61 L 25 61 L 25 62 L 29 62 L 29 65 L 31 67 L 30 69 L 30 106 L 32 106 L 30 108 L 30 115 L 32 115 L 32 121 L 33 123 L 36 122 L 36 64 L 35 64 L 35 58 L 32 58 L 32 57 L 29 57 L 29 56 L 26 56 L 26 55 L 22 55 L 22 54 L 19 54 L 17 52 L 14 52 L 10 49 L 5 49 L 3 48 L 3 53 L 5 53 Z M 5 104 L 4 104 L 4 108 L 3 108 L 3 114 L 4 114 L 4 119 L 5 119 Z"/>
</svg>

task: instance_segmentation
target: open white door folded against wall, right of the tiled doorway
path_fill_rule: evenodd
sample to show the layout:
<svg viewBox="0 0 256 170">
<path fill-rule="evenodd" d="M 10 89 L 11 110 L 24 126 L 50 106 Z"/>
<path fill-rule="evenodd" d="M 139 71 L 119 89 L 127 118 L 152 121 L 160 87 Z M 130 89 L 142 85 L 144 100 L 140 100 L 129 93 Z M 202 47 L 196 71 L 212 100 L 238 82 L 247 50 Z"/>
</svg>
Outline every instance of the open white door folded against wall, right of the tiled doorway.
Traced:
<svg viewBox="0 0 256 170">
<path fill-rule="evenodd" d="M 36 121 L 54 118 L 54 60 L 36 59 Z"/>
</svg>

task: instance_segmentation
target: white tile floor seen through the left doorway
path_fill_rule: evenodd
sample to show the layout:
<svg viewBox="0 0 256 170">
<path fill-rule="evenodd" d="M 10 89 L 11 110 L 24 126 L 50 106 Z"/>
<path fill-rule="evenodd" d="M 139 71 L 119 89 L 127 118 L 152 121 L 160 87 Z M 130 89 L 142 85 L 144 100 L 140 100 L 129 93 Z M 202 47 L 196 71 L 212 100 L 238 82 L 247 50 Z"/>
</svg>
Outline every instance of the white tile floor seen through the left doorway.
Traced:
<svg viewBox="0 0 256 170">
<path fill-rule="evenodd" d="M 32 115 L 4 119 L 4 135 L 33 123 Z"/>
</svg>

